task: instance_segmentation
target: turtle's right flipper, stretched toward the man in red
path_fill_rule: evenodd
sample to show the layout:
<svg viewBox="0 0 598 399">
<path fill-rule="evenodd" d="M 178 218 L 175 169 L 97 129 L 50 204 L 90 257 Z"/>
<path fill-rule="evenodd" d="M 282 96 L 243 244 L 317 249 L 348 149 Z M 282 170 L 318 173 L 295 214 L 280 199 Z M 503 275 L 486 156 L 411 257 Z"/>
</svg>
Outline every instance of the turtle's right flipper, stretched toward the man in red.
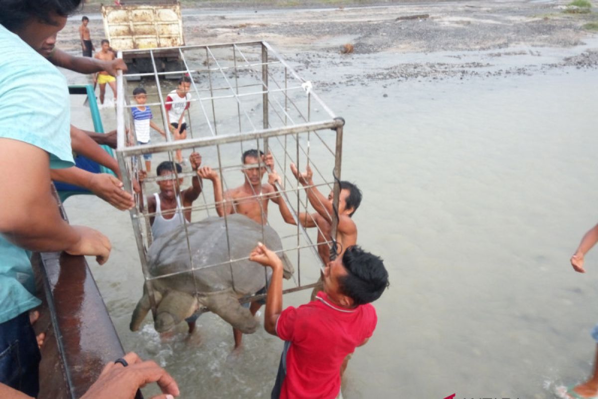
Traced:
<svg viewBox="0 0 598 399">
<path fill-rule="evenodd" d="M 249 312 L 249 309 L 241 306 L 233 291 L 210 294 L 203 301 L 208 309 L 220 316 L 234 328 L 241 330 L 243 334 L 253 334 L 258 327 L 258 322 Z"/>
</svg>

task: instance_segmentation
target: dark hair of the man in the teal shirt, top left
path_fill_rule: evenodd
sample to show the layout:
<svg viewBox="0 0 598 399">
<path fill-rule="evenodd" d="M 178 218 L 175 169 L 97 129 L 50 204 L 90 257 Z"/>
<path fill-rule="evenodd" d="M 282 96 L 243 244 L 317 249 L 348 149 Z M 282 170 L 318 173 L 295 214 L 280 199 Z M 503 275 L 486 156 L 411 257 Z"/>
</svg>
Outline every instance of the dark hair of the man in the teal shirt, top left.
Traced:
<svg viewBox="0 0 598 399">
<path fill-rule="evenodd" d="M 81 7 L 81 2 L 82 0 L 0 0 L 0 25 L 13 33 L 23 28 L 31 18 L 47 25 L 57 25 L 50 17 L 51 13 L 67 17 Z"/>
</svg>

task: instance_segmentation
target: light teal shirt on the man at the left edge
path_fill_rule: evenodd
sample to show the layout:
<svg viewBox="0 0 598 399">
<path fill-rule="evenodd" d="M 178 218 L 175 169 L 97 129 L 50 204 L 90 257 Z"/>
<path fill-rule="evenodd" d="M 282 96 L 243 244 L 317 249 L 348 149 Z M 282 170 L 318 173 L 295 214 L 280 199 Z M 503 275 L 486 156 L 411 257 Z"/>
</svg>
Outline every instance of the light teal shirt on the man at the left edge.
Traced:
<svg viewBox="0 0 598 399">
<path fill-rule="evenodd" d="M 47 151 L 53 169 L 73 166 L 66 78 L 2 25 L 0 54 L 0 138 L 23 141 Z M 29 251 L 0 235 L 0 323 L 40 303 L 33 296 L 30 256 Z"/>
</svg>

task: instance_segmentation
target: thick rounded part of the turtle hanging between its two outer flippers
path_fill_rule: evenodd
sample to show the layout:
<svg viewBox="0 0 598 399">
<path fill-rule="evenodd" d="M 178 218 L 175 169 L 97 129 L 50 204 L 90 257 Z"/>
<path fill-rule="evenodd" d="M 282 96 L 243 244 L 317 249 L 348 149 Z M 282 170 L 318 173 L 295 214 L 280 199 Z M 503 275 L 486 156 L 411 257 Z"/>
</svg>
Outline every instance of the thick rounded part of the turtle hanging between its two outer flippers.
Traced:
<svg viewBox="0 0 598 399">
<path fill-rule="evenodd" d="M 197 309 L 194 296 L 181 291 L 169 291 L 160 301 L 155 317 L 154 327 L 158 333 L 171 330 L 175 325 L 193 315 Z"/>
</svg>

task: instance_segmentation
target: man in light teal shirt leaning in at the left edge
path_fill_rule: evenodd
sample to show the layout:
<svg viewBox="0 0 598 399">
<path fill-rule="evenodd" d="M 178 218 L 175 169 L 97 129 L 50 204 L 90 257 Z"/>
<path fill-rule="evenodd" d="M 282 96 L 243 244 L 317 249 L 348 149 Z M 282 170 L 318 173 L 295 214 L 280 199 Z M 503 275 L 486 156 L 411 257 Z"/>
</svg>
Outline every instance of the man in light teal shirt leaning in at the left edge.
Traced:
<svg viewBox="0 0 598 399">
<path fill-rule="evenodd" d="M 30 251 L 95 255 L 111 246 L 69 226 L 51 193 L 50 168 L 73 165 L 66 80 L 39 50 L 81 0 L 0 0 L 0 383 L 38 394 L 39 350 L 28 312 Z"/>
</svg>

